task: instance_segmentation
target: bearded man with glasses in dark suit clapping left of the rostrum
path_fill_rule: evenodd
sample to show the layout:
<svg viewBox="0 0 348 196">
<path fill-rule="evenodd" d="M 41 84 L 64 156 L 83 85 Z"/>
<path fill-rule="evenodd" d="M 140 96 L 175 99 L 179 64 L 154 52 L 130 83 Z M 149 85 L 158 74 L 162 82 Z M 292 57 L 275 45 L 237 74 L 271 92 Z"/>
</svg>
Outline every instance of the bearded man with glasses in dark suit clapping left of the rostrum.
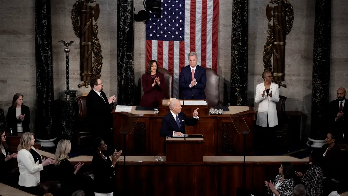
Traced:
<svg viewBox="0 0 348 196">
<path fill-rule="evenodd" d="M 93 77 L 89 84 L 92 90 L 86 98 L 88 126 L 95 137 L 101 137 L 105 141 L 111 136 L 110 128 L 113 123 L 111 108 L 116 97 L 114 95 L 106 97 L 103 92 L 103 82 L 98 77 Z"/>
</svg>

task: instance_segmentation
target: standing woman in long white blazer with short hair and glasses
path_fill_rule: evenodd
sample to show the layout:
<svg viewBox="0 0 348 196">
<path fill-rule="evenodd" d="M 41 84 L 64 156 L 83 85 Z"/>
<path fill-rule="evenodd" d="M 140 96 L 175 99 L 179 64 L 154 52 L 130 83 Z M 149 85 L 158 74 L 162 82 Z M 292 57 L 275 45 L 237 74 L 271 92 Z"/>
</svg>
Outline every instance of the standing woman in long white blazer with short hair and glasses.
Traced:
<svg viewBox="0 0 348 196">
<path fill-rule="evenodd" d="M 279 101 L 278 85 L 272 83 L 272 74 L 263 71 L 264 82 L 256 85 L 255 102 L 259 104 L 256 125 L 274 127 L 278 125 L 276 103 Z"/>
</svg>

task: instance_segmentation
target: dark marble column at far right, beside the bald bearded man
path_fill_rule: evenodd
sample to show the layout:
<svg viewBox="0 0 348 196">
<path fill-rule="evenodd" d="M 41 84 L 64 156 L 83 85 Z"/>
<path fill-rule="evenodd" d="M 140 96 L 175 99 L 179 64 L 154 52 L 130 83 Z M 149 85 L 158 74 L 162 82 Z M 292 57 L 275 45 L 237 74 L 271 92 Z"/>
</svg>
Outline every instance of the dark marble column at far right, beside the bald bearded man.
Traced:
<svg viewBox="0 0 348 196">
<path fill-rule="evenodd" d="M 310 141 L 321 148 L 329 130 L 331 0 L 316 0 L 313 46 L 313 83 Z"/>
</svg>

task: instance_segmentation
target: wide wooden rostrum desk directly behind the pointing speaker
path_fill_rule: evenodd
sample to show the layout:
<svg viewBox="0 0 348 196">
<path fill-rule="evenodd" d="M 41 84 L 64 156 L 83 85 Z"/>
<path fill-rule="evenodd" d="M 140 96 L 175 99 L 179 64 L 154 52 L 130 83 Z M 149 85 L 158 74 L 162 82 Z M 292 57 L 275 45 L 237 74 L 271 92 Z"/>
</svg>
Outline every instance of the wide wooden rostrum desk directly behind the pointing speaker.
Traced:
<svg viewBox="0 0 348 196">
<path fill-rule="evenodd" d="M 186 106 L 182 107 L 185 110 Z M 204 156 L 243 155 L 244 142 L 241 133 L 248 129 L 250 132 L 246 136 L 246 150 L 249 155 L 253 154 L 254 107 L 230 106 L 230 111 L 225 112 L 224 115 L 204 115 L 201 114 L 204 109 L 200 106 L 195 107 L 200 108 L 199 121 L 196 126 L 186 126 L 185 131 L 187 134 L 204 135 L 204 144 L 201 149 Z M 127 156 L 164 154 L 165 137 L 159 135 L 163 114 L 155 114 L 153 111 L 136 111 L 135 106 L 132 107 L 131 112 L 112 113 L 114 148 L 124 150 L 124 135 L 120 132 L 126 130 L 130 133 L 133 130 L 126 136 Z M 190 116 L 189 113 L 186 115 Z"/>
</svg>

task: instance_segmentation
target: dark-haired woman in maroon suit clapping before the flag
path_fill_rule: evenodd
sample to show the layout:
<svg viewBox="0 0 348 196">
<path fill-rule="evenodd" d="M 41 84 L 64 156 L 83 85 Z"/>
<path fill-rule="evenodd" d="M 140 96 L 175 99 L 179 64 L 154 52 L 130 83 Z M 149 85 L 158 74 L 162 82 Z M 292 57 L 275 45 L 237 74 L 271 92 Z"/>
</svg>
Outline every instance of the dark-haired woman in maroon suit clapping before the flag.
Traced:
<svg viewBox="0 0 348 196">
<path fill-rule="evenodd" d="M 164 74 L 158 71 L 156 60 L 148 63 L 148 69 L 141 76 L 144 95 L 141 98 L 141 107 L 158 107 L 159 101 L 164 99 L 163 91 L 165 90 Z"/>
</svg>

